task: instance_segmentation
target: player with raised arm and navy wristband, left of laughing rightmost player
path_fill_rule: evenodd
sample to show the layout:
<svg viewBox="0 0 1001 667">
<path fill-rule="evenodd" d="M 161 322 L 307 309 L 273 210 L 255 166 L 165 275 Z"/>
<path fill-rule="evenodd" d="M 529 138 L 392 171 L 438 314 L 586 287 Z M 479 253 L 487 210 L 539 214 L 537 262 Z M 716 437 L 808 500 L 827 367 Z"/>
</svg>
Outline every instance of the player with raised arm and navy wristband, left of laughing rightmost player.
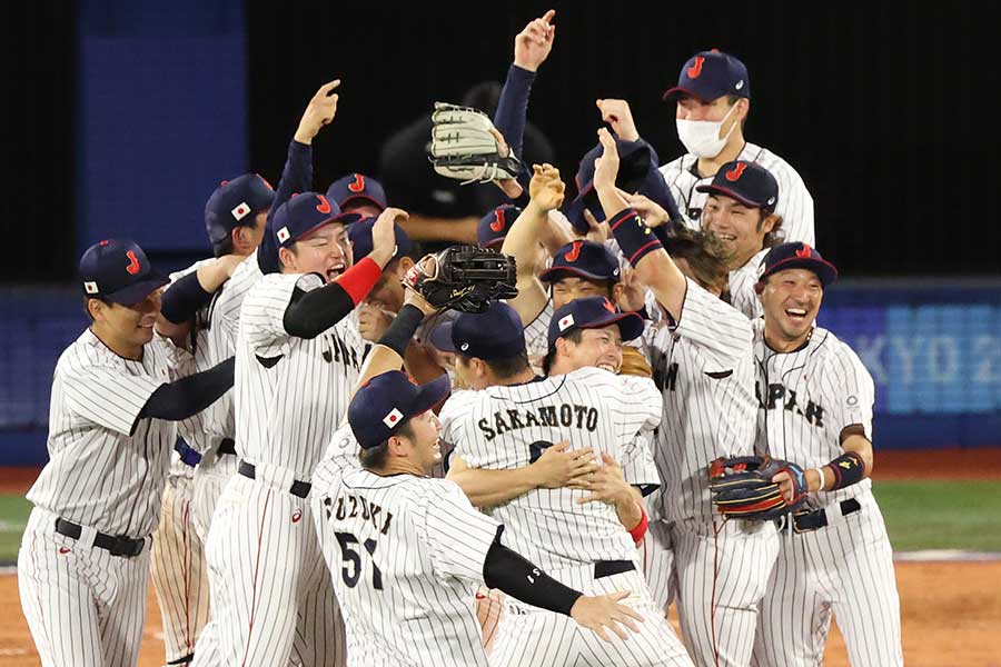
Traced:
<svg viewBox="0 0 1001 667">
<path fill-rule="evenodd" d="M 615 141 L 604 128 L 598 138 L 605 150 L 594 185 L 602 208 L 637 278 L 663 311 L 648 341 L 663 392 L 654 448 L 663 484 L 657 519 L 671 536 L 682 635 L 697 665 L 746 666 L 779 539 L 771 524 L 723 521 L 714 514 L 707 471 L 718 457 L 754 450 L 751 323 L 686 277 L 626 206 L 615 189 Z"/>
</svg>

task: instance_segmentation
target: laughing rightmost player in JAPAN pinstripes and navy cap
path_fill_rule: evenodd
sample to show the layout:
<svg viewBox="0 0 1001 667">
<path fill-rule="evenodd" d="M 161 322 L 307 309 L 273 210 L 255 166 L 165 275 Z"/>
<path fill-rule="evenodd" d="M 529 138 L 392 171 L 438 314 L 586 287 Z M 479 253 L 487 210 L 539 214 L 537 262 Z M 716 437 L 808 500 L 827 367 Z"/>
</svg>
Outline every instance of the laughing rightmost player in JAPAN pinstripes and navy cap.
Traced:
<svg viewBox="0 0 1001 667">
<path fill-rule="evenodd" d="M 805 489 L 780 481 L 787 501 L 779 559 L 761 601 L 755 665 L 823 660 L 831 614 L 854 666 L 903 665 L 892 549 L 872 496 L 872 377 L 859 356 L 815 326 L 836 269 L 805 243 L 772 248 L 753 322 L 759 447 L 805 469 Z"/>
</svg>

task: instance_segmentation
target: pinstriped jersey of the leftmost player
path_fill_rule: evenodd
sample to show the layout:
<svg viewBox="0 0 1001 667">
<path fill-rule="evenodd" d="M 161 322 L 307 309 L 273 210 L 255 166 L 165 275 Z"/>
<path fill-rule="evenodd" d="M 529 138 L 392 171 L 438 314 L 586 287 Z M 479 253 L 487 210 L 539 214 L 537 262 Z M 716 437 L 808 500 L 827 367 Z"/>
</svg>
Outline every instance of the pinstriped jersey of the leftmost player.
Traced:
<svg viewBox="0 0 1001 667">
<path fill-rule="evenodd" d="M 133 361 L 83 331 L 56 364 L 49 462 L 28 500 L 100 532 L 152 532 L 177 427 L 139 412 L 160 385 L 189 375 L 191 364 L 159 336 Z"/>
</svg>

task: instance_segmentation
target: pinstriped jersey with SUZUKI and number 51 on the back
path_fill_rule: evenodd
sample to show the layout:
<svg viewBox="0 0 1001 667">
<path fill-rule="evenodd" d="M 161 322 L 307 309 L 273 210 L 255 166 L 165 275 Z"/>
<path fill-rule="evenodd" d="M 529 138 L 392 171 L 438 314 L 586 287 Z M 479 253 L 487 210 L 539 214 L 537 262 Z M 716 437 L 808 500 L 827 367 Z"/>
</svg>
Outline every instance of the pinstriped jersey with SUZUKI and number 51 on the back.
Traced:
<svg viewBox="0 0 1001 667">
<path fill-rule="evenodd" d="M 488 665 L 469 583 L 499 525 L 449 480 L 360 469 L 339 429 L 311 502 L 347 633 L 349 666 Z"/>
</svg>

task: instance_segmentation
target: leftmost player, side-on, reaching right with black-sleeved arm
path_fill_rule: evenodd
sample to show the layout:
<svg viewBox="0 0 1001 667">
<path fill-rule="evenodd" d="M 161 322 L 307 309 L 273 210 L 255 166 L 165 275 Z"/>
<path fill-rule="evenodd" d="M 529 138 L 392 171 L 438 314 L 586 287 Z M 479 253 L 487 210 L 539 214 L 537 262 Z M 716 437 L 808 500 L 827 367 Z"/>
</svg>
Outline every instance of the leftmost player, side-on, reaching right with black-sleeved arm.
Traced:
<svg viewBox="0 0 1001 667">
<path fill-rule="evenodd" d="M 175 422 L 232 386 L 234 360 L 190 374 L 155 337 L 160 277 L 136 243 L 80 259 L 90 327 L 60 356 L 49 462 L 18 554 L 18 587 L 42 665 L 135 665 Z"/>
</svg>

